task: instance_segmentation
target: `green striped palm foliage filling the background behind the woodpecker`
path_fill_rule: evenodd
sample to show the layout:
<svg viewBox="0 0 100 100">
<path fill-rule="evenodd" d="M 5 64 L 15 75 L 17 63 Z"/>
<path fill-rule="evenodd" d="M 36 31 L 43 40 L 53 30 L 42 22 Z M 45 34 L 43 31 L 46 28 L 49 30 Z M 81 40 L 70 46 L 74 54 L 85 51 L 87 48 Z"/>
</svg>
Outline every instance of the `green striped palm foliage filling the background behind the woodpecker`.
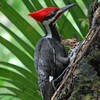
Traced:
<svg viewBox="0 0 100 100">
<path fill-rule="evenodd" d="M 62 5 L 56 3 L 56 1 L 57 0 L 44 0 L 47 7 L 61 7 L 69 3 L 76 4 L 75 7 L 71 8 L 57 22 L 60 35 L 63 38 L 73 38 L 73 34 L 77 34 L 80 39 L 83 39 L 88 32 L 86 11 L 91 0 L 61 0 Z M 39 0 L 22 0 L 21 3 L 27 7 L 29 12 L 44 7 Z M 0 80 L 11 84 L 10 86 L 0 84 L 0 88 L 6 88 L 8 90 L 4 93 L 0 92 L 0 95 L 1 98 L 2 96 L 9 95 L 21 100 L 40 100 L 41 97 L 38 92 L 33 53 L 37 41 L 41 38 L 41 34 L 36 30 L 36 27 L 26 21 L 13 6 L 9 5 L 7 0 L 0 0 L 0 11 L 17 27 L 17 30 L 27 38 L 27 41 L 20 38 L 17 32 L 13 32 L 9 27 L 5 26 L 4 23 L 0 22 L 0 27 L 6 30 L 22 49 L 2 36 L 0 36 L 0 43 L 8 48 L 25 67 L 22 68 L 19 65 L 0 62 Z M 84 9 L 82 7 L 84 7 Z M 29 12 L 27 12 L 27 14 Z M 41 28 L 39 23 L 38 28 Z"/>
</svg>

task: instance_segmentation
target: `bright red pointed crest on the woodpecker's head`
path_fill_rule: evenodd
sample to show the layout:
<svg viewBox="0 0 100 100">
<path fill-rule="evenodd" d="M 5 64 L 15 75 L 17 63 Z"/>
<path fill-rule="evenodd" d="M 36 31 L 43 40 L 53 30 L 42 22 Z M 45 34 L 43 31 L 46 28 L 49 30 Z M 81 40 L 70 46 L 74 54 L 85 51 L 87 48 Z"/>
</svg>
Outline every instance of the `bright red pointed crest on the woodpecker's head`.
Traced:
<svg viewBox="0 0 100 100">
<path fill-rule="evenodd" d="M 59 8 L 56 7 L 43 8 L 39 11 L 28 14 L 28 16 L 31 16 L 37 22 L 41 22 L 53 10 L 59 10 Z"/>
</svg>

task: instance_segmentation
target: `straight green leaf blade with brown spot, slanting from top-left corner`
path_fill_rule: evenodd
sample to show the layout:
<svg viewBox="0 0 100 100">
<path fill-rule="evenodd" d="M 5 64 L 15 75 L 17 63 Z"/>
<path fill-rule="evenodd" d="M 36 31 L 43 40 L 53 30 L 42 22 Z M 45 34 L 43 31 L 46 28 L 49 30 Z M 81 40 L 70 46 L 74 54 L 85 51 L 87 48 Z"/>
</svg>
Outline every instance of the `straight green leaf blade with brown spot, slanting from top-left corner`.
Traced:
<svg viewBox="0 0 100 100">
<path fill-rule="evenodd" d="M 4 0 L 0 0 L 0 11 L 8 17 L 32 44 L 36 45 L 41 37 L 40 34 Z"/>
</svg>

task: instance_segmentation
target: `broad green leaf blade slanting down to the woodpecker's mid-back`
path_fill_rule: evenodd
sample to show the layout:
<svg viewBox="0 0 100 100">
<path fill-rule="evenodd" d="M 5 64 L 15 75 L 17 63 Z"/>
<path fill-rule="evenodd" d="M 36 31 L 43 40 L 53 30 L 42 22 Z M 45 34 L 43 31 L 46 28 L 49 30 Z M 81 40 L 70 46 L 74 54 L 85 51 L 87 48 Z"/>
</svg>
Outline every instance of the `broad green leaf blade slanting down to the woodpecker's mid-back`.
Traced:
<svg viewBox="0 0 100 100">
<path fill-rule="evenodd" d="M 29 56 L 1 36 L 0 43 L 7 47 L 30 71 L 35 73 L 33 60 Z"/>
</svg>

